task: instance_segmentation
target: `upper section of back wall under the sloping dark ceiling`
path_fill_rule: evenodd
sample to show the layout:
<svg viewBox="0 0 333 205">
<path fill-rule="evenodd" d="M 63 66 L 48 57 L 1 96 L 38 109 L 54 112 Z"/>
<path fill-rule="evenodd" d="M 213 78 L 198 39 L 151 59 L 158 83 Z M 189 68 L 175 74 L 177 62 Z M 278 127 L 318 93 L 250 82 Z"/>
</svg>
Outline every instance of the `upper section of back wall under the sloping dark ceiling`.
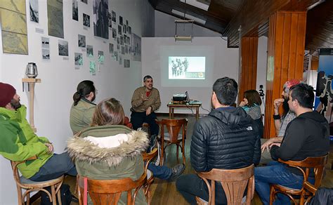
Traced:
<svg viewBox="0 0 333 205">
<path fill-rule="evenodd" d="M 174 37 L 175 36 L 175 20 L 178 19 L 172 15 L 155 11 L 155 37 Z M 178 35 L 190 35 L 191 29 L 185 27 L 183 31 L 183 25 L 178 25 Z M 210 29 L 206 29 L 199 25 L 193 24 L 193 37 L 221 37 L 218 32 L 213 32 Z"/>
</svg>

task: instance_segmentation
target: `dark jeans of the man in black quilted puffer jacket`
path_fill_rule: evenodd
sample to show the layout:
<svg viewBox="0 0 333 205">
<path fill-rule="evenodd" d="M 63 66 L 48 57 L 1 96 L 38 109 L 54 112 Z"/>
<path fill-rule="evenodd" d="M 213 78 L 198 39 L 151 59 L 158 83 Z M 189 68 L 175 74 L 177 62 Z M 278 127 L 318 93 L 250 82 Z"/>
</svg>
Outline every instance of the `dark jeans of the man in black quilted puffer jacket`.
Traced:
<svg viewBox="0 0 333 205">
<path fill-rule="evenodd" d="M 208 188 L 204 180 L 196 174 L 187 174 L 180 176 L 176 180 L 176 187 L 188 203 L 195 205 L 195 197 L 200 197 L 208 201 Z M 227 204 L 226 193 L 222 190 L 221 185 L 217 185 L 215 190 L 215 204 Z"/>
</svg>

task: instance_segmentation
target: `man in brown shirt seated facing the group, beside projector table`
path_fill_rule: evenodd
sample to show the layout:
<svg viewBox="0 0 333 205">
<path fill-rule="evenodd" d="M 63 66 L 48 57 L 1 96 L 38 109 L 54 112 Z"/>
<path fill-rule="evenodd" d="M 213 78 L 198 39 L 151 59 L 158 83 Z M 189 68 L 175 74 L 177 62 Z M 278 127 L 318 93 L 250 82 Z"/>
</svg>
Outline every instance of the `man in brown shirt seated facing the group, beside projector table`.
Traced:
<svg viewBox="0 0 333 205">
<path fill-rule="evenodd" d="M 132 97 L 131 123 L 136 130 L 142 127 L 143 122 L 150 126 L 151 135 L 158 135 L 159 126 L 155 122 L 155 110 L 161 106 L 159 91 L 152 87 L 152 77 L 146 75 L 143 78 L 143 86 L 137 88 Z"/>
</svg>

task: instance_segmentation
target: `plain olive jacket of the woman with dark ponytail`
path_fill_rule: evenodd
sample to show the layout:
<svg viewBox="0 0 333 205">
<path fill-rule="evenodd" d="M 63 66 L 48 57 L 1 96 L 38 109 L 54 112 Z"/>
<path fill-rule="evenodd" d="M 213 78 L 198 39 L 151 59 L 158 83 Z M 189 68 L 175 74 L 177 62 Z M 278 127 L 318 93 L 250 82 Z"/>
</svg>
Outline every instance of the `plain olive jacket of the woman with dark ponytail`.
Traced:
<svg viewBox="0 0 333 205">
<path fill-rule="evenodd" d="M 95 108 L 96 104 L 85 98 L 81 98 L 81 100 L 77 102 L 77 105 L 72 105 L 70 108 L 70 128 L 73 134 L 89 127 Z"/>
</svg>

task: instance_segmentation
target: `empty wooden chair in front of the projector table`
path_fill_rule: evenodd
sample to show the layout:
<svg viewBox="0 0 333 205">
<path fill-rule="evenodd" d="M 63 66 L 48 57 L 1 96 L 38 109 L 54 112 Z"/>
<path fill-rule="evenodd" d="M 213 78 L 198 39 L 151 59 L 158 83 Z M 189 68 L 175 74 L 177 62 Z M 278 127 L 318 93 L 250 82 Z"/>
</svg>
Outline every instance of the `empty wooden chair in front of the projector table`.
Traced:
<svg viewBox="0 0 333 205">
<path fill-rule="evenodd" d="M 161 158 L 159 164 L 164 163 L 164 150 L 167 146 L 171 144 L 177 145 L 177 162 L 178 162 L 178 147 L 181 147 L 181 152 L 183 153 L 183 164 L 185 164 L 185 138 L 186 130 L 188 128 L 188 119 L 162 119 L 157 121 L 159 127 L 161 128 L 160 140 L 161 140 Z M 166 131 L 164 129 L 166 126 Z M 181 134 L 180 134 L 180 131 Z M 166 146 L 164 147 L 164 142 Z"/>
</svg>

